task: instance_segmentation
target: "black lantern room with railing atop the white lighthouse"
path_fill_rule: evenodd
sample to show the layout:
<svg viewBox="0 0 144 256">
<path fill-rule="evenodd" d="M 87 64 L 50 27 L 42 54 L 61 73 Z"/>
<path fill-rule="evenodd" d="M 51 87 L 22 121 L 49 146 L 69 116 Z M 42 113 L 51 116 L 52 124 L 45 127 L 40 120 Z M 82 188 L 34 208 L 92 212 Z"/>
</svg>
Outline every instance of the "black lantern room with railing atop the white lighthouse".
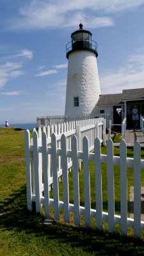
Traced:
<svg viewBox="0 0 144 256">
<path fill-rule="evenodd" d="M 67 59 L 70 52 L 77 50 L 87 50 L 97 53 L 97 42 L 92 40 L 92 33 L 83 29 L 83 24 L 79 24 L 79 30 L 76 30 L 71 35 L 72 41 L 66 45 Z"/>
</svg>

